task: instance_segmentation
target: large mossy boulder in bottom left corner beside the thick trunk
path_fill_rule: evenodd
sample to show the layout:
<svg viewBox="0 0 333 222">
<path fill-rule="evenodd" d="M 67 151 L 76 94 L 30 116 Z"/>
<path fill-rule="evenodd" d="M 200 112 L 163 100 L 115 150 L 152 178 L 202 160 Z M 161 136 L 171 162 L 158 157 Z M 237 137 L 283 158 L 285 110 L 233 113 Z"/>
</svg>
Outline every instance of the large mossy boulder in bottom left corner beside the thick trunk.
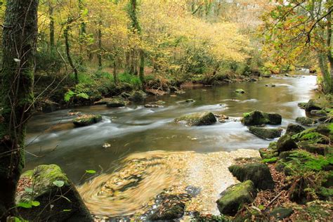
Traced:
<svg viewBox="0 0 333 222">
<path fill-rule="evenodd" d="M 22 174 L 20 181 L 16 200 L 25 220 L 93 221 L 77 189 L 59 166 L 37 166 Z"/>
</svg>

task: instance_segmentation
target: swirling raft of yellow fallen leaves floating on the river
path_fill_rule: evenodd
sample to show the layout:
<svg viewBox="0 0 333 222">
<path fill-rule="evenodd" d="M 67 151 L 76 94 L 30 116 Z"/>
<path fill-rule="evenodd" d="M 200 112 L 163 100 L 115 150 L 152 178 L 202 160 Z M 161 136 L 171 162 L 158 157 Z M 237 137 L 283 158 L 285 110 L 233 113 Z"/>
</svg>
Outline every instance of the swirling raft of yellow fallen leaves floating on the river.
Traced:
<svg viewBox="0 0 333 222">
<path fill-rule="evenodd" d="M 127 216 L 142 214 L 163 190 L 180 193 L 193 185 L 202 191 L 186 210 L 218 214 L 219 193 L 235 183 L 228 166 L 239 157 L 259 157 L 259 152 L 140 152 L 123 159 L 112 174 L 97 176 L 78 190 L 92 214 Z"/>
</svg>

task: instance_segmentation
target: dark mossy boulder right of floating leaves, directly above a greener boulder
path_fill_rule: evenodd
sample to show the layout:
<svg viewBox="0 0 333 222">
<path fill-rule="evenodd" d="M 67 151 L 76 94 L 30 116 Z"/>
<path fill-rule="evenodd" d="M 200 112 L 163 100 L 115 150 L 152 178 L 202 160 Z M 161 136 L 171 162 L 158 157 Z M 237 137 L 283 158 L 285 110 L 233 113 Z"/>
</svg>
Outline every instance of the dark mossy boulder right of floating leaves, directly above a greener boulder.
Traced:
<svg viewBox="0 0 333 222">
<path fill-rule="evenodd" d="M 274 188 L 274 181 L 266 164 L 255 162 L 229 166 L 228 169 L 238 181 L 250 180 L 254 183 L 255 188 L 261 190 Z"/>
</svg>

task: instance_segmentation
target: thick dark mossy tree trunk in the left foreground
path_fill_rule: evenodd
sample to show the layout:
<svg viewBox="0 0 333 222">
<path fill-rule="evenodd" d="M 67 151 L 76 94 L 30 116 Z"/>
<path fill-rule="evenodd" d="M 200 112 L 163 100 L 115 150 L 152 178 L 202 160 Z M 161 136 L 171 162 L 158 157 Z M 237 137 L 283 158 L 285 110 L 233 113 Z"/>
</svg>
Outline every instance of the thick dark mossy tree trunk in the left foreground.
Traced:
<svg viewBox="0 0 333 222">
<path fill-rule="evenodd" d="M 15 214 L 25 165 L 25 131 L 34 103 L 38 0 L 8 0 L 3 32 L 0 115 L 0 221 Z"/>
</svg>

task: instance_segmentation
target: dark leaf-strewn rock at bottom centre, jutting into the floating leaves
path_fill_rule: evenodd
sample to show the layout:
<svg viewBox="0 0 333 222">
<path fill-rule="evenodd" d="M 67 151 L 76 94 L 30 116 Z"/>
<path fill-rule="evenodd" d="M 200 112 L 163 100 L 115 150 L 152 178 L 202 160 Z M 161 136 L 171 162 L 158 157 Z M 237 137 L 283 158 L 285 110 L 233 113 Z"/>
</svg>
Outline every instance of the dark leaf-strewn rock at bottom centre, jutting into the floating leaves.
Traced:
<svg viewBox="0 0 333 222">
<path fill-rule="evenodd" d="M 188 195 L 169 195 L 162 193 L 157 196 L 152 214 L 148 214 L 149 221 L 172 221 L 181 218 L 185 213 L 185 201 Z"/>
</svg>

